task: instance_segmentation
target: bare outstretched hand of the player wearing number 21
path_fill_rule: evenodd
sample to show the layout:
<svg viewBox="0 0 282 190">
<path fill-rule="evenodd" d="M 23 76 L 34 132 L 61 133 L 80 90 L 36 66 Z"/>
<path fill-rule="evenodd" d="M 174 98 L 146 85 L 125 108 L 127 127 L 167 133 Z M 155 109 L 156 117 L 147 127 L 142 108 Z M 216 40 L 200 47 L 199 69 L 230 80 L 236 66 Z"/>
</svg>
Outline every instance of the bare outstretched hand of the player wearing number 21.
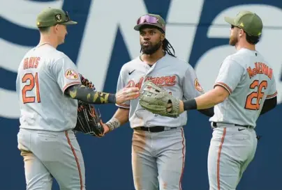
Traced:
<svg viewBox="0 0 282 190">
<path fill-rule="evenodd" d="M 116 102 L 117 104 L 120 104 L 122 102 L 126 102 L 128 100 L 133 100 L 137 97 L 139 97 L 140 92 L 139 88 L 137 87 L 125 87 L 119 90 L 119 92 L 116 93 Z"/>
</svg>

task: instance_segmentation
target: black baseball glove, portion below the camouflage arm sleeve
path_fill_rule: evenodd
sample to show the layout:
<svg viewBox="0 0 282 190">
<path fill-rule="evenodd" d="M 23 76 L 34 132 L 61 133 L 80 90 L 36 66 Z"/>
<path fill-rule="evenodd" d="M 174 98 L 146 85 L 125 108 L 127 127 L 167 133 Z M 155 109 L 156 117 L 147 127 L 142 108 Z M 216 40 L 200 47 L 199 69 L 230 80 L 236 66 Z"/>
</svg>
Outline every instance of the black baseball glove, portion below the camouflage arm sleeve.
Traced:
<svg viewBox="0 0 282 190">
<path fill-rule="evenodd" d="M 94 106 L 78 101 L 77 122 L 74 130 L 91 136 L 101 137 L 104 135 L 101 116 L 98 115 Z"/>
</svg>

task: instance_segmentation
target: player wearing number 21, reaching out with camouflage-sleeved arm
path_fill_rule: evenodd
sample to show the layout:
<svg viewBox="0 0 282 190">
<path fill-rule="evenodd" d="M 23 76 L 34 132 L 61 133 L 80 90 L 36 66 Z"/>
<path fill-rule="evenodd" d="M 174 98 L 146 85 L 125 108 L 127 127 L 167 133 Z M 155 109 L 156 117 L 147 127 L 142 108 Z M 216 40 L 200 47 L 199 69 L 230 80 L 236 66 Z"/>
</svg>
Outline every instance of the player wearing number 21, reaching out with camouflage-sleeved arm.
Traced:
<svg viewBox="0 0 282 190">
<path fill-rule="evenodd" d="M 64 43 L 66 26 L 77 22 L 56 8 L 44 9 L 36 22 L 40 42 L 24 55 L 16 81 L 21 112 L 17 141 L 27 189 L 50 190 L 54 177 L 60 189 L 83 190 L 84 161 L 72 130 L 77 100 L 122 103 L 135 98 L 139 89 L 126 88 L 114 95 L 82 86 L 73 61 L 57 50 Z"/>
</svg>

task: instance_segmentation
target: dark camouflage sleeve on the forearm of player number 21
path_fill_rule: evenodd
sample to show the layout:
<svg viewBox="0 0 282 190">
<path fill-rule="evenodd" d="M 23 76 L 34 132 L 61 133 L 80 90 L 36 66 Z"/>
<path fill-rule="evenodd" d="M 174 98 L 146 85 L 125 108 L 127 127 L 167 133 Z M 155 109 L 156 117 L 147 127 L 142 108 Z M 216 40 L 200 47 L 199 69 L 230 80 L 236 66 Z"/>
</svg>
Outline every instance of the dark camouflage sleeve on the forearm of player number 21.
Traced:
<svg viewBox="0 0 282 190">
<path fill-rule="evenodd" d="M 68 87 L 65 94 L 73 99 L 90 104 L 108 104 L 116 102 L 114 94 L 97 92 L 94 89 L 79 84 Z"/>
</svg>

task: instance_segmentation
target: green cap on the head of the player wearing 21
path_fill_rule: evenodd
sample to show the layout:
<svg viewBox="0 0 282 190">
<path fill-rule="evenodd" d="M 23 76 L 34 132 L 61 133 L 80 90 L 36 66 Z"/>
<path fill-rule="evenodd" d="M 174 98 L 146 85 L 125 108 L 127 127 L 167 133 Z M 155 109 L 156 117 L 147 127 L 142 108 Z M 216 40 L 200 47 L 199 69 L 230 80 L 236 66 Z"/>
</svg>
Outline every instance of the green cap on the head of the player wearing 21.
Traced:
<svg viewBox="0 0 282 190">
<path fill-rule="evenodd" d="M 36 26 L 38 27 L 54 26 L 56 24 L 70 25 L 77 24 L 77 22 L 70 19 L 68 12 L 59 8 L 45 8 L 37 16 Z"/>
</svg>

